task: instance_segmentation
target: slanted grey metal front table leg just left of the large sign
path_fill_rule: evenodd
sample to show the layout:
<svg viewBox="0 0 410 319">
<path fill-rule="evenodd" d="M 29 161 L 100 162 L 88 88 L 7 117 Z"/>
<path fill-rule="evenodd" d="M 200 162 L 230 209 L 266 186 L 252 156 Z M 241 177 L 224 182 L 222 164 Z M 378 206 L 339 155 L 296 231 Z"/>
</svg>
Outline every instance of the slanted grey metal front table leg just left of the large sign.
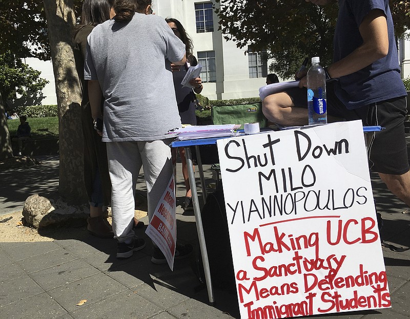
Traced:
<svg viewBox="0 0 410 319">
<path fill-rule="evenodd" d="M 199 247 L 201 249 L 203 271 L 205 273 L 205 280 L 206 280 L 206 283 L 207 283 L 209 302 L 212 305 L 214 303 L 214 291 L 213 291 L 213 288 L 212 288 L 211 271 L 209 269 L 209 260 L 208 260 L 208 251 L 207 251 L 207 245 L 205 243 L 205 236 L 204 236 L 204 233 L 203 233 L 201 210 L 199 208 L 198 193 L 197 193 L 197 190 L 196 190 L 195 173 L 194 173 L 194 169 L 193 169 L 193 165 L 192 165 L 193 163 L 192 163 L 191 149 L 190 149 L 189 146 L 185 147 L 185 157 L 187 159 L 189 184 L 191 186 L 192 203 L 194 205 L 196 230 L 198 232 Z"/>
</svg>

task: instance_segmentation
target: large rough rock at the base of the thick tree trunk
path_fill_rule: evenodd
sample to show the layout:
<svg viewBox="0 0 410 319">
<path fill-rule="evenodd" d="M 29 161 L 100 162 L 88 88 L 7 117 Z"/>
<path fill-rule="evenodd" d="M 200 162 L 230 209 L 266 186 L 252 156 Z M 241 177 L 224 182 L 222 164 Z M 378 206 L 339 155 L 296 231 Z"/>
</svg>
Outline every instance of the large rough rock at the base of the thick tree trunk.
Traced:
<svg viewBox="0 0 410 319">
<path fill-rule="evenodd" d="M 70 206 L 61 199 L 48 199 L 32 195 L 26 199 L 23 216 L 29 226 L 40 228 L 84 225 L 89 217 L 86 206 Z"/>
</svg>

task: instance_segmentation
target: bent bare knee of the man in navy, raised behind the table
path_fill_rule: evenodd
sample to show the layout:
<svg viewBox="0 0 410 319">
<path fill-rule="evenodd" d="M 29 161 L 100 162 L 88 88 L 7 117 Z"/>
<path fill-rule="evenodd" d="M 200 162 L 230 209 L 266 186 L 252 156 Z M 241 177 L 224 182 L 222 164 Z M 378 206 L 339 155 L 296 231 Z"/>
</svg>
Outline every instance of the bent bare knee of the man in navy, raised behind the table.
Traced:
<svg viewBox="0 0 410 319">
<path fill-rule="evenodd" d="M 271 122 L 283 126 L 308 124 L 308 110 L 295 106 L 285 92 L 268 95 L 262 101 L 263 115 Z"/>
</svg>

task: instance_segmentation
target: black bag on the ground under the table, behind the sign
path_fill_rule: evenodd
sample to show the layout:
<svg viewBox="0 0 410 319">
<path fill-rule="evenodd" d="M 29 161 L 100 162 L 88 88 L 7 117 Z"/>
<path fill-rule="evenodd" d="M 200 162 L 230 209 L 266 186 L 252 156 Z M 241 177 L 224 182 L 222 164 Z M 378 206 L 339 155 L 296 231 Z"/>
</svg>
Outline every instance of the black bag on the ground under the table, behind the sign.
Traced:
<svg viewBox="0 0 410 319">
<path fill-rule="evenodd" d="M 221 185 L 221 184 L 220 184 Z M 222 186 L 207 197 L 202 208 L 202 225 L 208 250 L 212 284 L 216 288 L 236 293 L 235 274 L 229 241 L 227 213 Z M 200 250 L 196 258 L 195 273 L 199 281 L 205 283 Z"/>
</svg>

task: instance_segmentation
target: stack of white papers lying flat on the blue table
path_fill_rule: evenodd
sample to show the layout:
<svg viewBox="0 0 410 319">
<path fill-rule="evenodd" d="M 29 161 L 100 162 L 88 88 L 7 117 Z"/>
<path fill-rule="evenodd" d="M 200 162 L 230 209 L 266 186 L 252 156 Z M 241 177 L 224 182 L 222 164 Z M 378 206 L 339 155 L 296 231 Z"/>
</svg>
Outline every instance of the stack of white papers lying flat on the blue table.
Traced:
<svg viewBox="0 0 410 319">
<path fill-rule="evenodd" d="M 198 138 L 224 137 L 235 134 L 235 131 L 240 127 L 239 124 L 223 124 L 223 125 L 190 125 L 168 132 L 168 134 L 176 135 L 177 140 L 192 140 Z"/>
</svg>

